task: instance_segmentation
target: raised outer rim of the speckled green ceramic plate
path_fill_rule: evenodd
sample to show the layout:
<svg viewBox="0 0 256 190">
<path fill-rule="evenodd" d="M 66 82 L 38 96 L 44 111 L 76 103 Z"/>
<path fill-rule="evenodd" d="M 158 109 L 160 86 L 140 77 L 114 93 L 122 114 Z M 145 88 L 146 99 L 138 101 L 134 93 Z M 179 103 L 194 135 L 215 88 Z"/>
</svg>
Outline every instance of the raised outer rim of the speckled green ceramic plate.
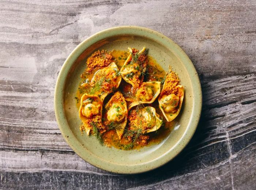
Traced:
<svg viewBox="0 0 256 190">
<path fill-rule="evenodd" d="M 141 35 L 138 35 L 138 34 L 141 34 Z M 76 59 L 80 56 L 80 54 L 82 54 L 88 47 L 90 47 L 91 45 L 93 45 L 98 41 L 101 41 L 109 37 L 117 36 L 117 35 L 137 35 L 137 36 L 151 38 L 154 41 L 157 41 L 158 43 L 160 43 L 161 45 L 164 45 L 167 49 L 172 49 L 173 53 L 175 53 L 176 56 L 180 58 L 181 62 L 184 64 L 185 69 L 187 70 L 188 75 L 191 79 L 194 97 L 193 97 L 193 108 L 191 113 L 192 116 L 188 122 L 188 126 L 185 132 L 183 133 L 182 137 L 174 145 L 174 147 L 172 149 L 169 149 L 169 151 L 165 152 L 164 154 L 160 155 L 157 158 L 156 163 L 155 163 L 156 159 L 153 159 L 144 163 L 127 165 L 126 167 L 119 166 L 123 168 L 118 168 L 119 164 L 109 163 L 105 160 L 104 160 L 105 163 L 103 164 L 102 159 L 91 154 L 78 141 L 72 140 L 76 137 L 72 133 L 65 119 L 64 107 L 63 107 L 64 88 L 65 88 L 67 75 L 72 65 L 74 64 Z M 195 92 L 195 89 L 196 89 L 196 92 Z M 61 67 L 61 70 L 57 77 L 55 91 L 54 91 L 54 113 L 55 113 L 56 121 L 61 131 L 61 134 L 66 140 L 66 142 L 68 143 L 68 145 L 84 161 L 102 170 L 117 173 L 117 174 L 139 174 L 139 173 L 151 171 L 158 167 L 163 166 L 164 164 L 168 163 L 170 160 L 174 159 L 174 157 L 176 157 L 187 146 L 188 142 L 191 140 L 193 134 L 195 133 L 197 125 L 199 123 L 200 116 L 201 116 L 201 111 L 202 111 L 201 83 L 199 80 L 199 76 L 196 72 L 196 69 L 192 61 L 187 56 L 187 54 L 184 52 L 184 50 L 181 49 L 180 46 L 178 46 L 174 41 L 172 41 L 172 39 L 166 37 L 165 35 L 157 31 L 154 31 L 145 27 L 139 27 L 139 26 L 117 26 L 117 27 L 107 28 L 105 30 L 99 31 L 98 33 L 95 33 L 94 35 L 91 35 L 89 38 L 79 43 L 79 45 L 77 45 L 75 49 L 69 54 L 63 66 Z M 87 154 L 85 154 L 85 151 L 87 152 Z M 161 159 L 161 160 L 158 160 L 158 159 Z M 138 165 L 141 165 L 141 164 L 143 164 L 144 166 L 138 167 Z"/>
</svg>

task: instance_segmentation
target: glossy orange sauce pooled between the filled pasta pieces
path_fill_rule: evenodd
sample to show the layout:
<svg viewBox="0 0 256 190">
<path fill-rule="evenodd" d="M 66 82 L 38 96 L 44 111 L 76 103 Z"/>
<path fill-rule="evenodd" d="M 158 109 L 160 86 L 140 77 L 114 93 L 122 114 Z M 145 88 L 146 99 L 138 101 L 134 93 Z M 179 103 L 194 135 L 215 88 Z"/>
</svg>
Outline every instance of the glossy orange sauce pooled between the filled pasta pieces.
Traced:
<svg viewBox="0 0 256 190">
<path fill-rule="evenodd" d="M 125 51 L 120 51 L 120 50 L 112 50 L 109 53 L 113 56 L 113 62 L 116 63 L 116 65 L 118 66 L 118 69 L 120 70 L 121 67 L 124 65 L 124 62 L 127 60 L 129 53 L 125 52 Z M 90 82 L 94 73 L 97 70 L 98 69 L 95 69 L 90 74 L 86 74 L 86 75 L 82 76 L 82 80 L 79 84 L 79 88 L 78 88 L 78 91 L 76 92 L 76 97 L 75 97 L 77 100 L 76 105 L 77 105 L 78 109 L 80 107 L 81 97 L 84 94 L 83 88 L 81 88 L 80 85 L 82 83 L 84 83 L 86 79 L 89 79 L 89 82 Z M 154 60 L 154 58 L 148 56 L 148 69 L 147 69 L 147 74 L 144 77 L 144 81 L 161 81 L 161 80 L 163 80 L 164 76 L 165 76 L 165 71 L 161 68 L 161 66 L 159 66 L 157 64 L 157 62 Z M 161 86 L 161 88 L 162 88 L 162 86 Z M 136 89 L 132 89 L 131 84 L 126 83 L 122 79 L 118 90 L 123 91 L 128 94 L 131 94 Z M 105 98 L 105 100 L 103 102 L 103 107 L 109 101 L 109 99 L 111 98 L 112 95 L 113 95 L 113 93 L 109 94 Z M 124 95 L 124 98 L 125 98 L 125 95 Z M 154 107 L 156 109 L 156 112 L 160 115 L 160 118 L 163 118 L 164 125 L 161 126 L 160 129 L 158 129 L 156 132 L 147 133 L 147 135 L 150 137 L 150 140 L 148 141 L 148 145 L 158 144 L 170 134 L 170 132 L 172 131 L 172 129 L 174 127 L 174 121 L 166 122 L 165 117 L 163 117 L 163 114 L 162 114 L 161 110 L 159 109 L 157 99 L 155 100 L 155 102 L 153 102 L 151 104 L 143 104 L 143 105 L 145 107 L 146 106 Z M 104 110 L 103 110 L 102 117 L 106 118 L 106 113 L 104 112 Z M 130 143 L 130 141 L 126 140 L 126 138 L 121 138 L 121 140 L 119 140 L 115 130 L 109 130 L 109 131 L 105 132 L 104 134 L 102 134 L 102 138 L 106 142 L 106 144 L 111 145 L 117 149 L 124 149 L 124 146 Z M 139 149 L 141 147 L 143 147 L 143 146 L 136 145 L 136 144 L 133 145 L 133 149 Z"/>
</svg>

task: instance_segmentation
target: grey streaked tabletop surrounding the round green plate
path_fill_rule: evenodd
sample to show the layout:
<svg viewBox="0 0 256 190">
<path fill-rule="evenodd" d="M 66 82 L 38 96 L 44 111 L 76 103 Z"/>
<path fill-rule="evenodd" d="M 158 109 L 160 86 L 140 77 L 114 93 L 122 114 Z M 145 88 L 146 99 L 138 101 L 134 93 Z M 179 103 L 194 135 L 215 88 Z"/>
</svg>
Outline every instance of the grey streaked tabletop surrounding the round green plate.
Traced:
<svg viewBox="0 0 256 190">
<path fill-rule="evenodd" d="M 0 189 L 256 189 L 255 10 L 255 0 L 0 1 Z M 191 58 L 203 91 L 188 146 L 139 175 L 83 161 L 53 110 L 68 54 L 121 25 L 172 38 Z"/>
</svg>

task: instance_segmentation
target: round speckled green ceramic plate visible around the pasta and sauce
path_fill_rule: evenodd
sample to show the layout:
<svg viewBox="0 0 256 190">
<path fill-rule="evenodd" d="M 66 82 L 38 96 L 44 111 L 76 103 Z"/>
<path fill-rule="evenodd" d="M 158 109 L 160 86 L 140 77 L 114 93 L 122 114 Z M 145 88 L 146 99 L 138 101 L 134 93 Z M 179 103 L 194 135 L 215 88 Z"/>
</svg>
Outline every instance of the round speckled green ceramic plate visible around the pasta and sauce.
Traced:
<svg viewBox="0 0 256 190">
<path fill-rule="evenodd" d="M 86 58 L 97 49 L 127 50 L 146 46 L 163 69 L 172 65 L 185 87 L 182 110 L 176 126 L 159 144 L 123 151 L 99 144 L 94 136 L 83 136 L 76 107 L 76 90 Z M 121 26 L 103 30 L 80 43 L 64 62 L 57 79 L 54 109 L 61 133 L 69 146 L 88 163 L 120 174 L 135 174 L 160 167 L 182 151 L 193 136 L 202 110 L 202 91 L 197 72 L 185 52 L 166 36 L 142 27 Z"/>
</svg>

